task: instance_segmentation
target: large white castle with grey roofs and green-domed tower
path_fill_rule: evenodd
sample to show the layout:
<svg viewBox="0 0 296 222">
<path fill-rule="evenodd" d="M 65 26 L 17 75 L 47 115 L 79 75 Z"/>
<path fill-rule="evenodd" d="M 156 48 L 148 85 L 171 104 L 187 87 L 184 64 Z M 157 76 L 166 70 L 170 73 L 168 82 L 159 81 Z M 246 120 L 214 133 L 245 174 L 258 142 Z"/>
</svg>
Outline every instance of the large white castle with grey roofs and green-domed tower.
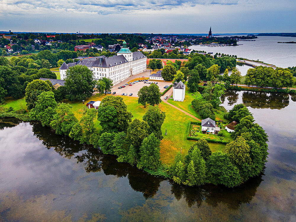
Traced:
<svg viewBox="0 0 296 222">
<path fill-rule="evenodd" d="M 106 77 L 113 81 L 113 85 L 116 85 L 129 76 L 146 71 L 147 57 L 141 52 L 131 52 L 126 47 L 126 41 L 123 41 L 123 48 L 120 49 L 116 56 L 86 58 L 69 64 L 64 62 L 59 68 L 61 80 L 67 77 L 67 70 L 75 65 L 85 65 L 93 71 L 95 79 Z"/>
</svg>

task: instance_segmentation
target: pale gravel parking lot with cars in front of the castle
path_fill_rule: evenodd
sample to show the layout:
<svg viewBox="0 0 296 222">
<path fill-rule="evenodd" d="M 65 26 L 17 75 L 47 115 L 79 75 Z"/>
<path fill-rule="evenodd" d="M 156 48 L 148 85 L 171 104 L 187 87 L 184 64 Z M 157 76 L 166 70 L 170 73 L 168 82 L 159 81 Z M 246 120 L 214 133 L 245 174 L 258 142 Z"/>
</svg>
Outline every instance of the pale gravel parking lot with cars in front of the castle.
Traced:
<svg viewBox="0 0 296 222">
<path fill-rule="evenodd" d="M 150 81 L 150 80 L 148 80 L 148 82 L 157 83 L 157 86 L 159 87 L 160 92 L 165 91 L 165 89 L 163 88 L 165 85 L 170 86 L 172 84 L 171 82 L 156 82 L 156 81 Z M 127 93 L 128 94 L 127 96 L 129 96 L 129 94 L 132 93 L 133 97 L 138 97 L 137 94 L 138 94 L 139 89 L 141 89 L 143 86 L 150 86 L 150 84 L 148 84 L 148 82 L 146 82 L 146 83 L 137 82 L 137 83 L 133 84 L 132 86 L 126 86 L 122 89 L 118 89 L 118 87 L 122 86 L 122 84 L 117 84 L 117 85 L 113 86 L 111 93 L 116 92 L 116 94 L 115 94 L 116 96 L 121 95 L 123 93 L 125 93 L 125 94 Z M 122 83 L 125 84 L 127 82 L 122 82 Z"/>
</svg>

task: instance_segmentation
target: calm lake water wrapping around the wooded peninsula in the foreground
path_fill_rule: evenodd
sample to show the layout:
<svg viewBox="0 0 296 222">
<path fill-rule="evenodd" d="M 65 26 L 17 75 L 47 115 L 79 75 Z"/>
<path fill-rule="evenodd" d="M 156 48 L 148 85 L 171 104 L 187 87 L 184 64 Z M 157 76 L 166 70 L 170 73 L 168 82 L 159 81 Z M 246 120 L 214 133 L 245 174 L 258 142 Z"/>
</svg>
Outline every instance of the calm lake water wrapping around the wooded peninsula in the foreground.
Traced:
<svg viewBox="0 0 296 222">
<path fill-rule="evenodd" d="M 262 175 L 186 187 L 37 123 L 0 123 L 0 221 L 296 221 L 296 96 L 228 91 L 269 135 Z"/>
</svg>

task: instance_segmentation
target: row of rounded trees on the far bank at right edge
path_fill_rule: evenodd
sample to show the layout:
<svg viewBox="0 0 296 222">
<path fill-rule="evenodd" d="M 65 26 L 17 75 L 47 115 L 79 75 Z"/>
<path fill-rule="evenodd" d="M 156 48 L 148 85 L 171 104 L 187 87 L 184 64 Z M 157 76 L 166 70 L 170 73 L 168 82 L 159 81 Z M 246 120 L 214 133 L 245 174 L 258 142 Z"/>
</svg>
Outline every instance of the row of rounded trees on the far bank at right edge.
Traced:
<svg viewBox="0 0 296 222">
<path fill-rule="evenodd" d="M 257 87 L 282 88 L 292 86 L 293 75 L 289 69 L 258 66 L 248 69 L 244 84 Z"/>
</svg>

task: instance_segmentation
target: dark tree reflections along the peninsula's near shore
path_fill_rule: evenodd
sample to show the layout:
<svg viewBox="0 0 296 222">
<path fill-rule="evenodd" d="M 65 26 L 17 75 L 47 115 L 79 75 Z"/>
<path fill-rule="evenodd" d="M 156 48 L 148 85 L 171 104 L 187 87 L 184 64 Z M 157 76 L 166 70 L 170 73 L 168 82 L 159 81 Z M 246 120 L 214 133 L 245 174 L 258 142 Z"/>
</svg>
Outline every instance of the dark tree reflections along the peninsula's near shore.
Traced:
<svg viewBox="0 0 296 222">
<path fill-rule="evenodd" d="M 66 136 L 56 135 L 49 128 L 42 127 L 41 124 L 33 123 L 33 132 L 48 149 L 54 147 L 56 152 L 66 158 L 75 156 L 77 163 L 83 163 L 87 173 L 103 170 L 105 175 L 115 175 L 118 178 L 127 177 L 131 188 L 143 193 L 146 199 L 155 196 L 160 188 L 160 183 L 164 180 L 151 176 L 127 163 L 118 163 L 113 155 L 104 155 L 90 146 L 78 144 Z M 171 193 L 175 198 L 177 200 L 184 198 L 189 207 L 194 204 L 200 206 L 205 200 L 208 205 L 213 207 L 221 202 L 229 209 L 236 210 L 241 203 L 252 200 L 261 181 L 261 177 L 253 178 L 242 186 L 232 189 L 213 185 L 187 187 L 171 181 L 170 184 Z"/>
</svg>

